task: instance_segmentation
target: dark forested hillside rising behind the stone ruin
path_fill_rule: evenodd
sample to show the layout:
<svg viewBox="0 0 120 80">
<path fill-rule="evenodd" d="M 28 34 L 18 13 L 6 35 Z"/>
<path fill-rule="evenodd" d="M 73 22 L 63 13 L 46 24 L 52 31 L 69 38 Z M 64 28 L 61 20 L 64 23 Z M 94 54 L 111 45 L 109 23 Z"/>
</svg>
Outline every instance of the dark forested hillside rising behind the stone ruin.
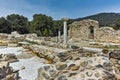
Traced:
<svg viewBox="0 0 120 80">
<path fill-rule="evenodd" d="M 114 26 L 117 19 L 120 18 L 119 13 L 99 13 L 96 15 L 91 15 L 83 18 L 74 19 L 75 21 L 80 21 L 83 19 L 93 19 L 99 21 L 100 26 Z"/>
</svg>

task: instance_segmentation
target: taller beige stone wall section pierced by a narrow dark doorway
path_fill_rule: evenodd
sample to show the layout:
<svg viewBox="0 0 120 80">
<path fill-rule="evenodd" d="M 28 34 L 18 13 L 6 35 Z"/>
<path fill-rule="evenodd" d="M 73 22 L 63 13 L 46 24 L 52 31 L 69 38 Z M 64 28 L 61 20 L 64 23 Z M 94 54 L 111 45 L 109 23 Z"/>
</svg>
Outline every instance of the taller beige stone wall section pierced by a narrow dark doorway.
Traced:
<svg viewBox="0 0 120 80">
<path fill-rule="evenodd" d="M 69 25 L 69 38 L 72 39 L 82 39 L 87 40 L 90 38 L 90 27 L 93 27 L 93 38 L 95 38 L 96 31 L 99 27 L 99 24 L 95 20 L 87 19 L 83 21 L 75 21 L 72 24 Z"/>
</svg>

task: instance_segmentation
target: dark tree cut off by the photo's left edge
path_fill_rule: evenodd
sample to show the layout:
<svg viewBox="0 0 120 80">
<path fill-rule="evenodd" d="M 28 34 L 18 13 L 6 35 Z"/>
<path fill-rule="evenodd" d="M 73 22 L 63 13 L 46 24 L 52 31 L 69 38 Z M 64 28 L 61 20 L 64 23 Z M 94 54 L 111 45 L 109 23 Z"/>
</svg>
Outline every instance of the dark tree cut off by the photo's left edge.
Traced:
<svg viewBox="0 0 120 80">
<path fill-rule="evenodd" d="M 0 33 L 11 33 L 10 23 L 5 18 L 0 18 Z"/>
</svg>

